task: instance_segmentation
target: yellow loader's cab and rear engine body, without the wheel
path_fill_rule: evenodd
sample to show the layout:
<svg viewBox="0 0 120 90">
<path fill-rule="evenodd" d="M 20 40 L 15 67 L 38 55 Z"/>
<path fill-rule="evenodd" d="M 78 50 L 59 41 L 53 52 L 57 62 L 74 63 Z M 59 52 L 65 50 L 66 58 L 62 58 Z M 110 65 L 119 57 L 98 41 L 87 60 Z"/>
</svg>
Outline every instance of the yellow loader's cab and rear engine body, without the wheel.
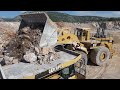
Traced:
<svg viewBox="0 0 120 90">
<path fill-rule="evenodd" d="M 113 50 L 113 38 L 112 37 L 104 37 L 97 38 L 91 33 L 92 30 L 90 28 L 80 28 L 75 30 L 75 35 L 78 37 L 79 41 L 84 44 L 87 48 L 88 52 L 91 49 L 97 48 L 98 46 L 105 46 L 109 49 L 111 56 L 114 55 L 115 51 Z"/>
</svg>

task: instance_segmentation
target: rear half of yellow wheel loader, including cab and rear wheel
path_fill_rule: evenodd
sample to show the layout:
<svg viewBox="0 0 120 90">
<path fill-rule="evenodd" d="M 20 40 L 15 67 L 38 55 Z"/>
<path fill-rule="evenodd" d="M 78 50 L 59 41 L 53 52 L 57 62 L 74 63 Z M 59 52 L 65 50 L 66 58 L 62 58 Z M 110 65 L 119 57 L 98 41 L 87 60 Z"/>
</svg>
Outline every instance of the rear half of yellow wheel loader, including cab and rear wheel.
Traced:
<svg viewBox="0 0 120 90">
<path fill-rule="evenodd" d="M 114 55 L 113 38 L 100 33 L 100 29 L 94 35 L 90 28 L 76 28 L 74 34 L 79 41 L 87 48 L 88 58 L 96 65 L 103 65 Z"/>
</svg>

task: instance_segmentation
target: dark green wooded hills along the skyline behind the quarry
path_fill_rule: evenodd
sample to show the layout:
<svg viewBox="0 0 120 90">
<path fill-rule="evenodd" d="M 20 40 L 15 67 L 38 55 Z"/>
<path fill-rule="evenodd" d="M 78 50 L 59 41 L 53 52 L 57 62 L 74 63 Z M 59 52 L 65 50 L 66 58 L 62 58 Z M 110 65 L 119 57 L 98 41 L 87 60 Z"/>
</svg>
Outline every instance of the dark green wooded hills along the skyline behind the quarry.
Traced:
<svg viewBox="0 0 120 90">
<path fill-rule="evenodd" d="M 47 12 L 48 16 L 54 21 L 54 22 L 96 22 L 96 21 L 120 21 L 120 18 L 106 18 L 106 17 L 99 17 L 99 16 L 74 16 L 69 15 L 65 13 L 60 12 Z M 4 21 L 20 21 L 21 18 L 19 16 L 16 16 L 14 18 L 1 18 Z"/>
</svg>

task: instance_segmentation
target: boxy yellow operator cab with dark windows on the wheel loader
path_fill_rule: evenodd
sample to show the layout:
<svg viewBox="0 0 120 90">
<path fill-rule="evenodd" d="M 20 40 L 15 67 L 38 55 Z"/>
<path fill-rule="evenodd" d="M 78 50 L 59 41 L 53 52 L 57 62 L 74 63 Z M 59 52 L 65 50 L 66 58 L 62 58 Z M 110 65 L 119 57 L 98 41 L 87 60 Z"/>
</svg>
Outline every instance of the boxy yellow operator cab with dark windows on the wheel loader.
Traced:
<svg viewBox="0 0 120 90">
<path fill-rule="evenodd" d="M 90 40 L 90 31 L 89 28 L 76 28 L 75 35 L 80 41 Z"/>
</svg>

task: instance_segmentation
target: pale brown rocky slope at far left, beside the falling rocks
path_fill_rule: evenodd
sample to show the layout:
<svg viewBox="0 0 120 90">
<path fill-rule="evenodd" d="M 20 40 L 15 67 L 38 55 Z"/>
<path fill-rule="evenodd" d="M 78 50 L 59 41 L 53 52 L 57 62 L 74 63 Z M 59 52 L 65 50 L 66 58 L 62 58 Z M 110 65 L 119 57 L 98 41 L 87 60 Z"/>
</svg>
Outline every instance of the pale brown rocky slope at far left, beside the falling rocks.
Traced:
<svg viewBox="0 0 120 90">
<path fill-rule="evenodd" d="M 14 37 L 19 22 L 0 22 L 0 50 Z"/>
</svg>

